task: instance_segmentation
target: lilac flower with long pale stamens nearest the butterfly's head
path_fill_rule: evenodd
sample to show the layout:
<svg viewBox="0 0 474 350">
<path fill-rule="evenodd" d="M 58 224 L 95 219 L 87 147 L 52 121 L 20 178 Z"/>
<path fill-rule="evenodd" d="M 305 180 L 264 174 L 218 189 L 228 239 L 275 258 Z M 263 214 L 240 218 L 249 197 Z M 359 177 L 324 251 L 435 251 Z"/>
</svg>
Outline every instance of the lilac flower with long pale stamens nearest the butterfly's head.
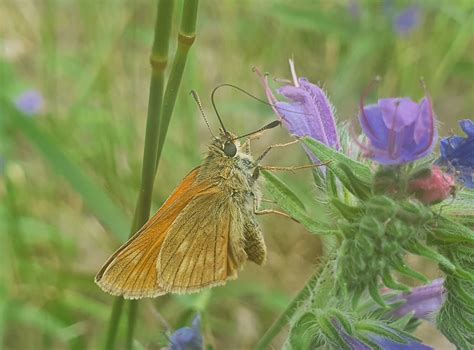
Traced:
<svg viewBox="0 0 474 350">
<path fill-rule="evenodd" d="M 281 102 L 273 95 L 266 76 L 258 71 L 265 87 L 265 93 L 273 110 L 281 118 L 288 131 L 297 137 L 310 136 L 325 145 L 339 149 L 339 137 L 334 118 L 334 107 L 324 91 L 307 79 L 298 78 L 293 61 L 290 60 L 293 84 L 278 89 L 280 95 L 290 102 Z M 314 156 L 310 155 L 313 159 Z"/>
</svg>

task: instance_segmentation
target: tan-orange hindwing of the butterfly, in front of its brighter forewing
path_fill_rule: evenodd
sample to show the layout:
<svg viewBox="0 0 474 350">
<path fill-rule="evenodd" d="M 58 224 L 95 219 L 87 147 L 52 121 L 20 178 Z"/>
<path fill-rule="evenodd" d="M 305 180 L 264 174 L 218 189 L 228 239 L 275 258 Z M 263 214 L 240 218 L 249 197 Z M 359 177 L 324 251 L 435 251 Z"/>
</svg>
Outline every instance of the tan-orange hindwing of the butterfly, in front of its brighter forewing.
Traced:
<svg viewBox="0 0 474 350">
<path fill-rule="evenodd" d="M 220 189 L 196 196 L 176 220 L 158 257 L 167 292 L 197 292 L 237 277 L 247 259 L 240 208 Z"/>
</svg>

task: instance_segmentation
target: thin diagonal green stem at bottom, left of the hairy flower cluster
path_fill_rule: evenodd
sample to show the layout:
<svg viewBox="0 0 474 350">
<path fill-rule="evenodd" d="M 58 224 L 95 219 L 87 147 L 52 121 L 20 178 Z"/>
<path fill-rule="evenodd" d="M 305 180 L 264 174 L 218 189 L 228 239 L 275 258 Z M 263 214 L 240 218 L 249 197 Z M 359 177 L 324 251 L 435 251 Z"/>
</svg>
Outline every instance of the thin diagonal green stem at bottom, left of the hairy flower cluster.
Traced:
<svg viewBox="0 0 474 350">
<path fill-rule="evenodd" d="M 310 296 L 310 291 L 317 284 L 320 275 L 321 272 L 316 270 L 316 272 L 309 278 L 303 289 L 296 295 L 290 304 L 288 304 L 285 311 L 283 311 L 278 319 L 273 322 L 271 327 L 265 332 L 255 347 L 256 350 L 266 350 L 270 348 L 270 343 L 272 342 L 273 338 L 275 338 L 283 329 L 283 327 L 288 324 L 288 321 L 293 317 L 295 311 L 298 309 L 298 306 L 308 299 Z"/>
</svg>

